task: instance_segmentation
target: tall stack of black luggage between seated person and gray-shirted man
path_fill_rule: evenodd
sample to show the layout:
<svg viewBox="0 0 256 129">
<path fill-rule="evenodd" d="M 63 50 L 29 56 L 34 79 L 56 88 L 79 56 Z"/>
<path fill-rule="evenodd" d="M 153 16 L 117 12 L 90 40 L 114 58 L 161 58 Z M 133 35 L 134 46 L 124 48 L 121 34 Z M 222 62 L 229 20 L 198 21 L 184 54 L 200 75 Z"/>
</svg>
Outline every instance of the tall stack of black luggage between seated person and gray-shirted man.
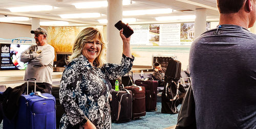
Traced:
<svg viewBox="0 0 256 129">
<path fill-rule="evenodd" d="M 161 96 L 161 113 L 177 114 L 179 105 L 178 89 L 181 72 L 181 62 L 170 59 L 164 75 L 164 89 Z"/>
</svg>

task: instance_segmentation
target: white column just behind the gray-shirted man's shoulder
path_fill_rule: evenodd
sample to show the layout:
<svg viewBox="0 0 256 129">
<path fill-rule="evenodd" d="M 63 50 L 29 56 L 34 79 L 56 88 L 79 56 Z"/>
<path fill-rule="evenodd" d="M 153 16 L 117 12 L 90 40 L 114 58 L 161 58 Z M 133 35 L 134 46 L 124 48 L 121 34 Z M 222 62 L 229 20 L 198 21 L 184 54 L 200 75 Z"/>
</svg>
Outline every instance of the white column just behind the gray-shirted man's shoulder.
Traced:
<svg viewBox="0 0 256 129">
<path fill-rule="evenodd" d="M 196 9 L 195 38 L 206 31 L 206 9 Z"/>
</svg>

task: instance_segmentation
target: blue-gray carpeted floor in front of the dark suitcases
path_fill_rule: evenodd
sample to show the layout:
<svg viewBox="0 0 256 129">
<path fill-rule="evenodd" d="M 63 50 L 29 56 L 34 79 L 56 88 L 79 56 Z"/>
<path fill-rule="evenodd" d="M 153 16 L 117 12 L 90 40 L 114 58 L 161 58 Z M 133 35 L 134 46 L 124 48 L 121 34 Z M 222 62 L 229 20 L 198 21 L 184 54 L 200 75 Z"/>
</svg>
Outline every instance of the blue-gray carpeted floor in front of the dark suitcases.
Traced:
<svg viewBox="0 0 256 129">
<path fill-rule="evenodd" d="M 178 106 L 180 109 L 181 104 Z M 134 128 L 166 128 L 177 123 L 178 114 L 162 114 L 161 113 L 161 97 L 158 96 L 157 111 L 146 112 L 146 116 L 140 117 L 140 119 L 132 120 L 125 123 L 112 123 L 113 129 L 134 129 Z"/>
</svg>

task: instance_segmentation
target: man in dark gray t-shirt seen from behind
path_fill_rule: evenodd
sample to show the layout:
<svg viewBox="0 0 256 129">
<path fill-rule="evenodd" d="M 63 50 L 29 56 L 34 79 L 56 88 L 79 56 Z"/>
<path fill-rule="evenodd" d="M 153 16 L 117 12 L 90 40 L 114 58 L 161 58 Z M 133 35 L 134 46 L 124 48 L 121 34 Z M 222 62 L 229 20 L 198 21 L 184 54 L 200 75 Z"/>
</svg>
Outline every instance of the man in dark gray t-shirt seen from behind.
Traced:
<svg viewBox="0 0 256 129">
<path fill-rule="evenodd" d="M 217 0 L 220 25 L 190 48 L 197 128 L 256 128 L 254 0 Z"/>
</svg>

